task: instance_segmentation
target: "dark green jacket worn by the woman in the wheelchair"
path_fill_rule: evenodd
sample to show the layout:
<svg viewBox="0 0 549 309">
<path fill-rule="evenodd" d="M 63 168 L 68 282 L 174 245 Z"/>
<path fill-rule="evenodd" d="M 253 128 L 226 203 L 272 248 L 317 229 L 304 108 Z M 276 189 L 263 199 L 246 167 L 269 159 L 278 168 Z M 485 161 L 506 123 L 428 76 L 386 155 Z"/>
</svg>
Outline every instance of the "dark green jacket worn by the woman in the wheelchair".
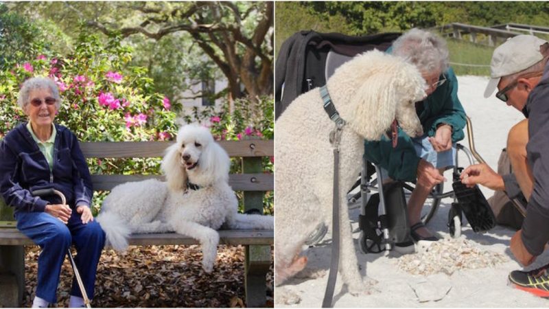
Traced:
<svg viewBox="0 0 549 309">
<path fill-rule="evenodd" d="M 458 99 L 458 80 L 454 70 L 449 68 L 443 75 L 446 76 L 446 82 L 423 100 L 425 109 L 421 111 L 419 120 L 423 133 L 430 137 L 436 133 L 436 126 L 449 124 L 452 126 L 452 142 L 455 143 L 465 137 L 465 111 Z M 380 164 L 392 179 L 416 181 L 420 158 L 412 139 L 400 128 L 397 148 L 393 149 L 387 137 L 383 137 L 381 141 L 364 141 L 364 147 L 366 159 Z"/>
</svg>

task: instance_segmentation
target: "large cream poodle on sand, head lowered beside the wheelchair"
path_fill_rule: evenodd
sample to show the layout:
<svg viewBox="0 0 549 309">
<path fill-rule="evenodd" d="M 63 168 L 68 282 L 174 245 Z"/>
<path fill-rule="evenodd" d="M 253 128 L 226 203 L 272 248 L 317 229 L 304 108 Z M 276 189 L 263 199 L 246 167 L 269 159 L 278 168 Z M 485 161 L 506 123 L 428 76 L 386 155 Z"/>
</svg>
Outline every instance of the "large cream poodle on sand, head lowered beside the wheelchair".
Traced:
<svg viewBox="0 0 549 309">
<path fill-rule="evenodd" d="M 425 80 L 417 68 L 377 50 L 356 56 L 327 81 L 327 90 L 342 129 L 339 163 L 340 262 L 349 292 L 368 293 L 362 282 L 349 224 L 346 195 L 362 166 L 364 139 L 379 140 L 394 119 L 410 136 L 422 128 L 414 102 L 425 97 Z M 303 93 L 277 119 L 274 137 L 275 282 L 282 284 L 307 264 L 299 256 L 320 222 L 331 227 L 334 154 L 329 133 L 335 123 L 323 108 L 319 89 Z"/>
</svg>

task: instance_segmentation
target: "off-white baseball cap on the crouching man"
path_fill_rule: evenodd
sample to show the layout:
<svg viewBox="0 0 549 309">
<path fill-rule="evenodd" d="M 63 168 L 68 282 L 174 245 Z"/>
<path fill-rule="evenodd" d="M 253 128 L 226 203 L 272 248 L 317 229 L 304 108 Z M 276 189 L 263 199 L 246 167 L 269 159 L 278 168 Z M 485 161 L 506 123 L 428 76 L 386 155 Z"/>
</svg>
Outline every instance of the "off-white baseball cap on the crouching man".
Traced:
<svg viewBox="0 0 549 309">
<path fill-rule="evenodd" d="M 537 36 L 521 34 L 508 38 L 505 43 L 494 49 L 490 63 L 490 77 L 484 98 L 489 98 L 498 87 L 500 78 L 523 71 L 541 61 L 544 56 L 540 47 L 548 43 Z"/>
</svg>

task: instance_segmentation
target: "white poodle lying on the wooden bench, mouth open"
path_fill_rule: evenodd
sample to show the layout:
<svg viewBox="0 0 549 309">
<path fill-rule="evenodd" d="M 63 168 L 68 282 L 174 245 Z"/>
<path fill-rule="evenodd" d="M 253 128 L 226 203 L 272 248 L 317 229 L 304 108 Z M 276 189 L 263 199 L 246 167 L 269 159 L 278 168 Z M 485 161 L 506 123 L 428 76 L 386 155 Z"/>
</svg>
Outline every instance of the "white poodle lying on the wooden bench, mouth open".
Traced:
<svg viewBox="0 0 549 309">
<path fill-rule="evenodd" d="M 128 247 L 130 233 L 176 233 L 202 245 L 202 267 L 211 272 L 222 225 L 229 229 L 273 229 L 272 216 L 238 214 L 229 186 L 229 155 L 208 128 L 180 128 L 162 160 L 166 182 L 156 179 L 117 185 L 97 216 L 107 244 Z"/>
</svg>

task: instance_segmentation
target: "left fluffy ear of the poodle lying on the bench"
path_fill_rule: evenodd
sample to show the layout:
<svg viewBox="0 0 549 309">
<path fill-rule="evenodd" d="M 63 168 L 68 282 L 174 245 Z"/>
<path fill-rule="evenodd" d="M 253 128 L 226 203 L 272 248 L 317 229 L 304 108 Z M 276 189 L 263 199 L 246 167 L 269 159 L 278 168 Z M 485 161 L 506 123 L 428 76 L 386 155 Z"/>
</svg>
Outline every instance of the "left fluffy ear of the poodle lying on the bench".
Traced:
<svg viewBox="0 0 549 309">
<path fill-rule="evenodd" d="M 161 168 L 166 176 L 167 186 L 170 190 L 187 190 L 187 171 L 181 165 L 181 152 L 178 143 L 166 149 Z"/>
</svg>

